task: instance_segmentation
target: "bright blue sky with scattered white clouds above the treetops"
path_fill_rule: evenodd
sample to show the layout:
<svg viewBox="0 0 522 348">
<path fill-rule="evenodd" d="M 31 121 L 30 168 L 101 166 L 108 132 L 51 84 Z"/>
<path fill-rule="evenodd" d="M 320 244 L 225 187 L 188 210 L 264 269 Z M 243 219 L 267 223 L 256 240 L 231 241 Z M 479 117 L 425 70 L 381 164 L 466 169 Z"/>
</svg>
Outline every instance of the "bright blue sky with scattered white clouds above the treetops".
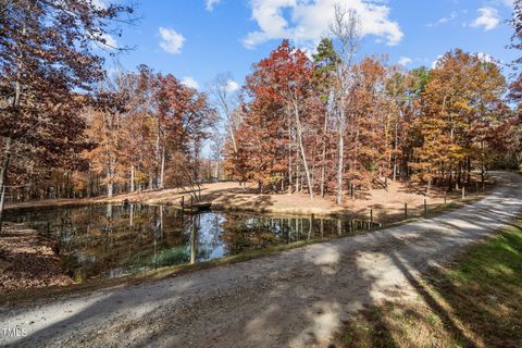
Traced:
<svg viewBox="0 0 522 348">
<path fill-rule="evenodd" d="M 360 57 L 387 54 L 390 63 L 412 69 L 430 66 L 457 47 L 502 62 L 517 54 L 506 49 L 512 0 L 141 0 L 139 23 L 113 39 L 134 47 L 117 57 L 125 70 L 144 63 L 201 90 L 217 73 L 229 72 L 241 85 L 251 64 L 283 38 L 313 49 L 335 2 L 358 11 Z"/>
</svg>

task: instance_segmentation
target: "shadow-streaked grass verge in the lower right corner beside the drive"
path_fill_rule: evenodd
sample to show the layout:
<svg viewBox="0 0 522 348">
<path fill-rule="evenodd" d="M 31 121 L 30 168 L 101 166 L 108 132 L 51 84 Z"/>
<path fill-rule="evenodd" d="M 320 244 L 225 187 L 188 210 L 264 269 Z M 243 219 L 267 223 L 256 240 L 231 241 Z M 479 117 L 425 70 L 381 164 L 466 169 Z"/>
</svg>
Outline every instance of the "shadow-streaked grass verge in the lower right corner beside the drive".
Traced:
<svg viewBox="0 0 522 348">
<path fill-rule="evenodd" d="M 522 220 L 415 287 L 358 312 L 335 346 L 522 347 Z"/>
</svg>

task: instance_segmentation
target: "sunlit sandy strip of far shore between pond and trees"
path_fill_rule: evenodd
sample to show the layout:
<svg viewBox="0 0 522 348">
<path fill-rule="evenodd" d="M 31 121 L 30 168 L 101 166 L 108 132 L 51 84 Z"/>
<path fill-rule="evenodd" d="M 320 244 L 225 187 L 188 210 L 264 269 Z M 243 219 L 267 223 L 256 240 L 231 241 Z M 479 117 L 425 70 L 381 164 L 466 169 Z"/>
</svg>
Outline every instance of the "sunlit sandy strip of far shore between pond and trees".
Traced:
<svg viewBox="0 0 522 348">
<path fill-rule="evenodd" d="M 435 188 L 431 197 L 415 192 L 407 192 L 401 184 L 396 184 L 390 192 L 384 189 L 369 190 L 362 192 L 362 198 L 346 199 L 343 207 L 336 206 L 332 197 L 316 197 L 313 200 L 303 194 L 278 194 L 260 195 L 252 188 L 243 190 L 238 188 L 237 183 L 225 182 L 219 184 L 206 184 L 201 189 L 201 199 L 199 202 L 210 203 L 212 211 L 247 212 L 260 214 L 287 214 L 287 215 L 315 215 L 323 217 L 345 217 L 369 215 L 370 210 L 373 214 L 384 214 L 389 216 L 401 215 L 405 213 L 405 204 L 408 207 L 408 213 L 412 215 L 424 213 L 424 200 L 426 208 L 439 210 L 445 204 L 455 204 L 459 202 L 473 202 L 482 199 L 495 189 L 497 183 L 488 181 L 486 188 L 478 191 L 472 189 L 467 192 L 462 199 L 460 190 L 448 192 L 444 198 L 444 190 Z M 397 197 L 396 197 L 396 196 Z M 179 194 L 179 189 L 148 190 L 133 194 L 122 194 L 112 198 L 82 198 L 82 199 L 57 199 L 57 200 L 36 200 L 21 203 L 8 203 L 5 211 L 24 209 L 48 209 L 60 207 L 85 207 L 90 204 L 121 204 L 128 200 L 130 203 L 140 203 L 148 206 L 169 206 L 182 209 L 182 197 L 188 201 L 188 194 Z"/>
</svg>

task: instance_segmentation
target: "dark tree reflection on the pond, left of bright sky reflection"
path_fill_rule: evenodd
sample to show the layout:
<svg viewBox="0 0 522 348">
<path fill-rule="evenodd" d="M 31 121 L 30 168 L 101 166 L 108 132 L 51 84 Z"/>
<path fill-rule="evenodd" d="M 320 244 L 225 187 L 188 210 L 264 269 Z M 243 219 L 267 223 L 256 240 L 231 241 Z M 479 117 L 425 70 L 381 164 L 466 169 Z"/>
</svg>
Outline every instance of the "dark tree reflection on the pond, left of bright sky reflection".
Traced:
<svg viewBox="0 0 522 348">
<path fill-rule="evenodd" d="M 184 216 L 148 206 L 91 206 L 29 211 L 20 220 L 60 240 L 64 266 L 78 279 L 120 276 L 187 262 Z M 169 252 L 162 252 L 165 249 Z"/>
</svg>

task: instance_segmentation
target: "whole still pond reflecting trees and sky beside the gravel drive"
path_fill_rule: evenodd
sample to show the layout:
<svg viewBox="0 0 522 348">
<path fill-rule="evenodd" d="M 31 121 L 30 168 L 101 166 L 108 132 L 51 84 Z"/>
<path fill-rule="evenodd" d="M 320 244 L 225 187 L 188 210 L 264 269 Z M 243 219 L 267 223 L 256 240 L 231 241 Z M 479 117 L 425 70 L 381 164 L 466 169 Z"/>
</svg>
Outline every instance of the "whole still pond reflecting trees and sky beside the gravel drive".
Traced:
<svg viewBox="0 0 522 348">
<path fill-rule="evenodd" d="M 368 221 L 212 211 L 187 214 L 172 207 L 144 204 L 16 210 L 8 211 L 5 217 L 58 239 L 55 252 L 77 282 L 376 227 Z"/>
</svg>

